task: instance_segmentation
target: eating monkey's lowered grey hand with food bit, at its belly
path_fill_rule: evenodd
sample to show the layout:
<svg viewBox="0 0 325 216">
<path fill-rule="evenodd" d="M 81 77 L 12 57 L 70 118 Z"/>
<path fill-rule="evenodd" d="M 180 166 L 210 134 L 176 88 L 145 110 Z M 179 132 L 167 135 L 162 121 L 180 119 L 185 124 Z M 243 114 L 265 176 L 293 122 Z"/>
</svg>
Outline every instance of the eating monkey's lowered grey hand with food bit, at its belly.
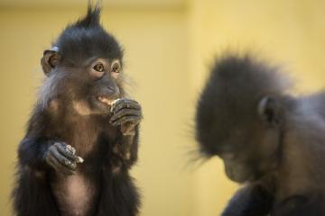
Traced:
<svg viewBox="0 0 325 216">
<path fill-rule="evenodd" d="M 83 159 L 75 155 L 75 148 L 63 142 L 53 142 L 44 154 L 45 162 L 58 173 L 75 174 L 77 163 Z"/>
</svg>

